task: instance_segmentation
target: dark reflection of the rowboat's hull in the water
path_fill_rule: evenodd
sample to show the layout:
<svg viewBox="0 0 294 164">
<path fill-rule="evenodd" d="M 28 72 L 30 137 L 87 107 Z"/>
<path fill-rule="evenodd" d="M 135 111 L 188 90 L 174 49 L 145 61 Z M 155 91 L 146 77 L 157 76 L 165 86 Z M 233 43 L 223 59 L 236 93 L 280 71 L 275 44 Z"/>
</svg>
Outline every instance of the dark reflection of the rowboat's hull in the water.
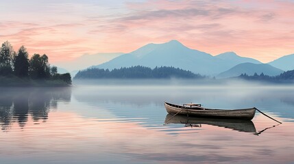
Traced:
<svg viewBox="0 0 294 164">
<path fill-rule="evenodd" d="M 201 126 L 201 124 L 209 124 L 213 126 L 231 128 L 234 131 L 256 133 L 256 128 L 251 120 L 195 118 L 187 117 L 186 115 L 167 114 L 165 124 L 185 124 L 185 126 Z"/>
</svg>

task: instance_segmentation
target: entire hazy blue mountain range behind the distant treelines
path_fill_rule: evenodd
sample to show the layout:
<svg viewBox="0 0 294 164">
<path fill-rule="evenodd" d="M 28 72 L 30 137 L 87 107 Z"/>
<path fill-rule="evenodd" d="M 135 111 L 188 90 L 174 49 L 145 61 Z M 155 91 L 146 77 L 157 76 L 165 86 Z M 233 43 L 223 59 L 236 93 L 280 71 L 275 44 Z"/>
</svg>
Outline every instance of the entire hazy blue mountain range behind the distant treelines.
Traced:
<svg viewBox="0 0 294 164">
<path fill-rule="evenodd" d="M 277 75 L 285 70 L 293 70 L 293 61 L 294 54 L 280 57 L 268 64 L 262 64 L 260 61 L 249 57 L 238 56 L 234 52 L 212 56 L 203 51 L 189 49 L 177 40 L 171 40 L 162 44 L 147 44 L 130 53 L 83 55 L 74 61 L 66 62 L 66 64 L 56 65 L 62 68 L 71 66 L 75 70 L 85 68 L 112 70 L 131 66 L 147 66 L 149 68 L 173 66 L 183 70 L 190 70 L 196 74 L 223 78 L 238 76 L 242 73 L 250 75 L 252 72 L 263 72 L 271 76 Z"/>
</svg>

